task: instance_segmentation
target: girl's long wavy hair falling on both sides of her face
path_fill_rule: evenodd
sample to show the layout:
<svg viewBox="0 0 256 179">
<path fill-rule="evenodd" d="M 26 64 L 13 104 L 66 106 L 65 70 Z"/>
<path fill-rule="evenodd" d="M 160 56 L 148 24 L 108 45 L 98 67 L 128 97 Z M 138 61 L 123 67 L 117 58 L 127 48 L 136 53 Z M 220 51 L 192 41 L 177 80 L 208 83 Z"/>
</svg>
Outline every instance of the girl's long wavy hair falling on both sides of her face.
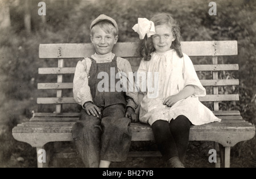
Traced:
<svg viewBox="0 0 256 179">
<path fill-rule="evenodd" d="M 181 35 L 180 35 L 180 27 L 176 20 L 172 18 L 171 14 L 167 13 L 158 13 L 152 16 L 151 21 L 156 25 L 168 24 L 172 29 L 172 35 L 174 35 L 175 40 L 172 42 L 171 48 L 175 49 L 177 55 L 182 58 L 183 54 L 181 52 Z M 155 48 L 153 46 L 152 38 L 145 36 L 143 40 L 141 40 L 139 52 L 141 56 L 143 56 L 144 60 L 150 60 L 150 54 L 155 52 Z"/>
</svg>

